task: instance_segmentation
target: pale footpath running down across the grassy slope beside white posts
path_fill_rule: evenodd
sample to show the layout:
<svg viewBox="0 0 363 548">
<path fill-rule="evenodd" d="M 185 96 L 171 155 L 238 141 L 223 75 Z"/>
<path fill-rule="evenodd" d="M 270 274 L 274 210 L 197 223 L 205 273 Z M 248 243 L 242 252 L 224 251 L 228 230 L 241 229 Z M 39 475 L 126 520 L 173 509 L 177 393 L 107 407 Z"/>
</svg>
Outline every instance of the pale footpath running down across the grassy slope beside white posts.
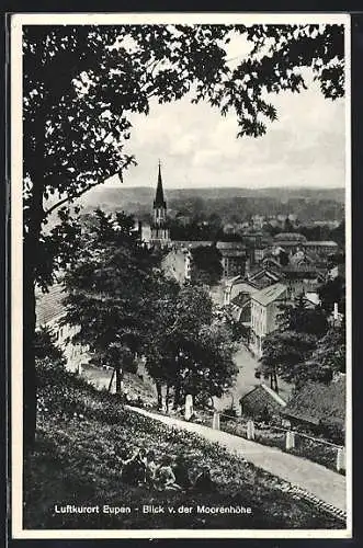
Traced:
<svg viewBox="0 0 363 548">
<path fill-rule="evenodd" d="M 283 453 L 274 447 L 266 447 L 256 442 L 234 436 L 227 432 L 213 430 L 172 416 L 165 416 L 144 409 L 129 408 L 143 415 L 156 419 L 169 426 L 193 432 L 211 442 L 217 442 L 230 453 L 240 455 L 247 461 L 269 471 L 273 476 L 300 487 L 319 500 L 347 510 L 345 478 L 310 460 Z"/>
</svg>

